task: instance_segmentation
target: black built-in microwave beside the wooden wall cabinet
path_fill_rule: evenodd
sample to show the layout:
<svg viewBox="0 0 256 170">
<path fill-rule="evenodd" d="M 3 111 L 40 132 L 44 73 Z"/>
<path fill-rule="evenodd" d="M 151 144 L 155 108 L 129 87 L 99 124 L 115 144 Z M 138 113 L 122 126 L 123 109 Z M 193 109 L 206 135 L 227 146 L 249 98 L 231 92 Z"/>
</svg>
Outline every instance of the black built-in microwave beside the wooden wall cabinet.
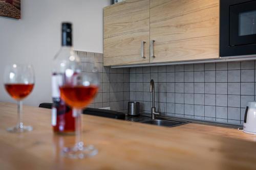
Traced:
<svg viewBox="0 0 256 170">
<path fill-rule="evenodd" d="M 220 57 L 256 56 L 256 1 L 220 0 Z"/>
</svg>

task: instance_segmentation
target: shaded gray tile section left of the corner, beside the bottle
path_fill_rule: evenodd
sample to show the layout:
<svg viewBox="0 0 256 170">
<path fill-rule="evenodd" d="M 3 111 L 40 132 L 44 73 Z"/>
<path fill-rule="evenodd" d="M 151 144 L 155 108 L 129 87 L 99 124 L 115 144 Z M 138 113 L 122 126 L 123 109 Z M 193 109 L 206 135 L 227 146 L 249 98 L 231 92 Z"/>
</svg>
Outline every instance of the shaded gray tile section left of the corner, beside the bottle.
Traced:
<svg viewBox="0 0 256 170">
<path fill-rule="evenodd" d="M 81 61 L 86 57 L 94 58 L 95 66 L 98 68 L 100 84 L 99 92 L 94 101 L 89 105 L 93 108 L 110 107 L 111 110 L 123 111 L 127 110 L 127 103 L 130 101 L 130 82 L 139 82 L 143 79 L 143 75 L 130 76 L 130 68 L 110 68 L 103 66 L 103 55 L 100 53 L 91 52 L 76 52 Z M 139 71 L 139 68 L 137 69 Z M 137 71 L 135 70 L 135 72 Z M 86 67 L 83 67 L 84 72 L 88 72 Z M 136 79 L 136 76 L 138 78 Z M 133 80 L 131 80 L 133 79 Z M 140 89 L 143 89 L 143 84 Z M 131 89 L 136 91 L 135 89 Z M 135 98 L 136 99 L 136 98 Z M 143 99 L 143 98 L 142 98 Z"/>
</svg>

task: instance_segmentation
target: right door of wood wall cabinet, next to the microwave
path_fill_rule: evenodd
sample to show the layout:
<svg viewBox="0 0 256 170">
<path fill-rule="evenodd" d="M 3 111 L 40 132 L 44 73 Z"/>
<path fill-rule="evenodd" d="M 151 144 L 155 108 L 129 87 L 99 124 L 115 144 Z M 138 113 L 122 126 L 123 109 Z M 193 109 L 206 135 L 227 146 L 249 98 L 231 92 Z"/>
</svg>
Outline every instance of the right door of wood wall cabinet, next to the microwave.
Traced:
<svg viewBox="0 0 256 170">
<path fill-rule="evenodd" d="M 151 62 L 219 57 L 219 0 L 151 0 Z"/>
</svg>

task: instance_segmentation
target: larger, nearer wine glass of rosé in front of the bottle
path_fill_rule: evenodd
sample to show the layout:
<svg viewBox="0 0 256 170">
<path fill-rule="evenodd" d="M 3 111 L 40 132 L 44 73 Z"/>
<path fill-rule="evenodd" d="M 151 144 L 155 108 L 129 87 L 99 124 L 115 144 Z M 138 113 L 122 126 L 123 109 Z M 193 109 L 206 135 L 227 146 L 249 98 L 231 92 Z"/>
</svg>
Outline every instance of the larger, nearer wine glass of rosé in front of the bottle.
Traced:
<svg viewBox="0 0 256 170">
<path fill-rule="evenodd" d="M 73 159 L 91 157 L 98 153 L 93 145 L 84 145 L 82 141 L 81 112 L 95 98 L 99 84 L 94 63 L 89 58 L 84 61 L 83 66 L 88 72 L 79 72 L 74 65 L 67 66 L 66 64 L 63 81 L 59 86 L 60 98 L 73 109 L 73 116 L 76 119 L 76 143 L 74 147 L 62 150 L 64 156 Z"/>
</svg>

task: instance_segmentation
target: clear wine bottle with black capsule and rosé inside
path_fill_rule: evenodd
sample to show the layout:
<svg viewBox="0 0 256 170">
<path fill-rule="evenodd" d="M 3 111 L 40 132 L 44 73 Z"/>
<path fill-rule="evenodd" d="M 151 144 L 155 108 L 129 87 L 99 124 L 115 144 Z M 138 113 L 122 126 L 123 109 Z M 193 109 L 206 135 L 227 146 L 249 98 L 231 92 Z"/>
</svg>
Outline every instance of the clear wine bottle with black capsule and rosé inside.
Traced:
<svg viewBox="0 0 256 170">
<path fill-rule="evenodd" d="M 67 74 L 65 70 L 67 70 L 68 67 L 77 67 L 76 71 L 68 73 L 72 83 L 72 77 L 76 75 L 76 72 L 80 72 L 80 68 L 77 65 L 78 60 L 72 46 L 72 24 L 63 22 L 61 29 L 61 47 L 54 57 L 54 68 L 52 72 L 52 127 L 53 131 L 56 133 L 75 133 L 75 117 L 73 116 L 73 111 L 60 99 L 59 86 L 62 83 L 63 76 Z"/>
</svg>

